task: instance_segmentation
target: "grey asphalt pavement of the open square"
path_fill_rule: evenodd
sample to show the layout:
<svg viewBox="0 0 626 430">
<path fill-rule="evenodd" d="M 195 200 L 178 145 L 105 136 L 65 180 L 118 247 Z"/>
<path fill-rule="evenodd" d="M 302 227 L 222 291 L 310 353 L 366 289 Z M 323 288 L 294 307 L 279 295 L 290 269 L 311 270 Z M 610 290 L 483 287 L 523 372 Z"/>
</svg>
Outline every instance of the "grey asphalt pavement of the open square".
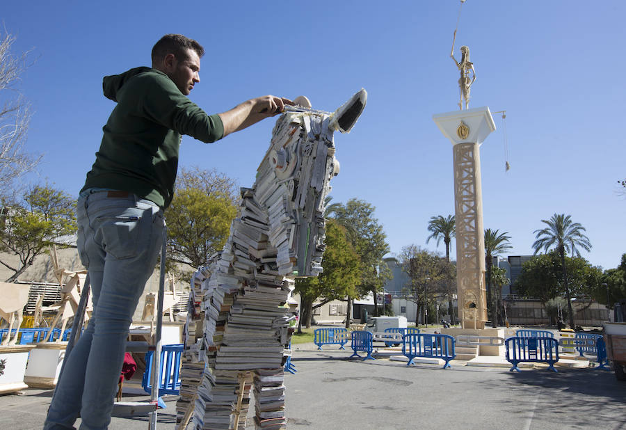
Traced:
<svg viewBox="0 0 626 430">
<path fill-rule="evenodd" d="M 350 360 L 351 352 L 294 345 L 298 372 L 284 382 L 289 429 L 626 429 L 626 383 L 597 367 L 407 367 L 385 358 Z M 31 389 L 0 396 L 0 429 L 41 429 L 50 398 L 51 390 Z M 157 427 L 174 429 L 176 397 L 164 400 Z M 109 428 L 147 427 L 147 417 L 114 417 Z"/>
</svg>

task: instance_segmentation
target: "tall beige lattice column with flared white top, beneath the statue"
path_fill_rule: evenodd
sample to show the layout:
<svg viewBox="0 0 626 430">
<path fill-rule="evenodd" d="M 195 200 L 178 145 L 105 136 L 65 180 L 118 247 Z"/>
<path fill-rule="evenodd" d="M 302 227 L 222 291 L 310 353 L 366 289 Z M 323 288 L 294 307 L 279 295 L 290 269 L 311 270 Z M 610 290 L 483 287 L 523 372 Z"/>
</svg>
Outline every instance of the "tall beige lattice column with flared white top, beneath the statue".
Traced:
<svg viewBox="0 0 626 430">
<path fill-rule="evenodd" d="M 463 328 L 483 329 L 487 300 L 479 148 L 495 123 L 487 106 L 439 113 L 433 120 L 454 152 L 458 318 Z"/>
</svg>

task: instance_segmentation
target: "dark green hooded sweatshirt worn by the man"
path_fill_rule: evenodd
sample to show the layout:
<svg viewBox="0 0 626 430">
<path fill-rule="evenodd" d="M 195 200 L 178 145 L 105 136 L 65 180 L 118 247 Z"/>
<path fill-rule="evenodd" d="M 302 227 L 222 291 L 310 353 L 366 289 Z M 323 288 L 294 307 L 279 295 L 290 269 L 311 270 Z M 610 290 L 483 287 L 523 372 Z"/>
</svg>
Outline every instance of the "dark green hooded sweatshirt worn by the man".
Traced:
<svg viewBox="0 0 626 430">
<path fill-rule="evenodd" d="M 104 77 L 105 97 L 117 102 L 85 186 L 135 193 L 165 209 L 174 195 L 182 134 L 209 143 L 224 135 L 220 117 L 207 115 L 163 72 L 136 67 Z"/>
</svg>

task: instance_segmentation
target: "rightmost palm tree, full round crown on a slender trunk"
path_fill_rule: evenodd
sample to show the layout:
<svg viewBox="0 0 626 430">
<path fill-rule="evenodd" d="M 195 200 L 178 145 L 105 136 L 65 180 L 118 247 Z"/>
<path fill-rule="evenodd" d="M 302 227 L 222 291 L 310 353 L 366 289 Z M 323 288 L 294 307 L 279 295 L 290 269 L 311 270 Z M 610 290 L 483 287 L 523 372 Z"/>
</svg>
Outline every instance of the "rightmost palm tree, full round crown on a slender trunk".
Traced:
<svg viewBox="0 0 626 430">
<path fill-rule="evenodd" d="M 546 223 L 547 227 L 535 230 L 537 239 L 533 244 L 535 254 L 541 248 L 547 252 L 549 248 L 556 248 L 561 257 L 561 269 L 563 270 L 563 286 L 565 287 L 565 298 L 568 300 L 568 312 L 570 317 L 570 328 L 574 328 L 574 312 L 572 312 L 572 298 L 570 297 L 570 286 L 568 285 L 568 271 L 565 269 L 565 254 L 570 252 L 572 256 L 580 256 L 577 249 L 583 248 L 586 251 L 591 250 L 591 242 L 589 238 L 583 234 L 585 228 L 580 223 L 572 223 L 572 217 L 565 214 L 554 214 L 548 221 L 541 220 Z"/>
</svg>

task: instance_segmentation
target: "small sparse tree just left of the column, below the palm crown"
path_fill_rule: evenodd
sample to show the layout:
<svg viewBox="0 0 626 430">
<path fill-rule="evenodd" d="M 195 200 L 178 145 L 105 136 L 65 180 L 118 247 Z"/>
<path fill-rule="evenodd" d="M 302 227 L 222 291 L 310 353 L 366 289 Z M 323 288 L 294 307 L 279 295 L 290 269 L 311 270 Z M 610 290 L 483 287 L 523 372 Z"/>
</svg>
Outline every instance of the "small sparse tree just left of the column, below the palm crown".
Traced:
<svg viewBox="0 0 626 430">
<path fill-rule="evenodd" d="M 445 258 L 417 245 L 404 246 L 399 260 L 409 278 L 408 285 L 403 288 L 404 298 L 417 305 L 416 323 L 419 313 L 423 312 L 428 326 L 428 307 L 437 298 L 447 296 L 447 287 L 456 278 L 456 268 Z"/>
</svg>

